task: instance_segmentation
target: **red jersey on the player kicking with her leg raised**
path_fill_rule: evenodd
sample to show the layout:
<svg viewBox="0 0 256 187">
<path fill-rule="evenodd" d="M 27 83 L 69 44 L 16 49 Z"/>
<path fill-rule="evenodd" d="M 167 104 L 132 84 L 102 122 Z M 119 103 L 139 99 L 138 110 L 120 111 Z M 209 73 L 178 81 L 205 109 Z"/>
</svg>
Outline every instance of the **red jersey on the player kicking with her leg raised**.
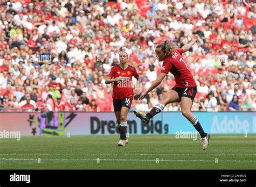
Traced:
<svg viewBox="0 0 256 187">
<path fill-rule="evenodd" d="M 182 59 L 183 49 L 174 49 L 172 56 L 167 56 L 164 60 L 160 73 L 173 74 L 176 81 L 176 87 L 196 87 L 196 82 L 188 69 L 186 62 Z"/>
</svg>

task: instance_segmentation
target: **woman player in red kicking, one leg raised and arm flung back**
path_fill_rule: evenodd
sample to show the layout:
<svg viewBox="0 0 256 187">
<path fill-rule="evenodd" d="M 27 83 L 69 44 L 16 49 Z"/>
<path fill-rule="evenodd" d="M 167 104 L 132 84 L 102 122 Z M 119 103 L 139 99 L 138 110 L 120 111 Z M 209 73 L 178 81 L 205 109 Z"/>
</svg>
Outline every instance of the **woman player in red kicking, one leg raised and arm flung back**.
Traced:
<svg viewBox="0 0 256 187">
<path fill-rule="evenodd" d="M 164 63 L 157 80 L 152 83 L 147 91 L 142 93 L 139 99 L 143 99 L 147 93 L 156 88 L 169 72 L 175 77 L 176 86 L 165 93 L 163 98 L 160 99 L 159 103 L 149 113 L 134 110 L 134 114 L 142 119 L 144 123 L 149 123 L 150 118 L 161 112 L 167 104 L 181 102 L 181 113 L 199 132 L 203 142 L 203 149 L 205 150 L 209 144 L 210 134 L 204 132 L 197 117 L 191 113 L 193 99 L 197 94 L 197 85 L 191 71 L 181 56 L 181 54 L 187 52 L 196 42 L 197 40 L 194 39 L 179 49 L 173 49 L 172 44 L 168 40 L 165 40 L 156 47 L 158 60 L 164 61 Z"/>
</svg>

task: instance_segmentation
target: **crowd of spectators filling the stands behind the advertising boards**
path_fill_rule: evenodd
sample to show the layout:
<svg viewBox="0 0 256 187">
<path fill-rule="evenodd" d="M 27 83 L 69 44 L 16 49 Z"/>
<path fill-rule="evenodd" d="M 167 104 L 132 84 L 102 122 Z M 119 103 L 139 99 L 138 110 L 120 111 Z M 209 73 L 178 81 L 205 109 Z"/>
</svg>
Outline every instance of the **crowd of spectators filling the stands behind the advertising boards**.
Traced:
<svg viewBox="0 0 256 187">
<path fill-rule="evenodd" d="M 2 0 L 0 111 L 38 110 L 50 94 L 56 111 L 112 111 L 105 76 L 119 51 L 141 77 L 160 72 L 154 54 L 166 39 L 183 54 L 197 83 L 192 111 L 256 111 L 256 13 L 249 1 Z M 165 77 L 132 109 L 149 111 L 175 84 Z M 164 111 L 179 111 L 179 103 Z"/>
</svg>

